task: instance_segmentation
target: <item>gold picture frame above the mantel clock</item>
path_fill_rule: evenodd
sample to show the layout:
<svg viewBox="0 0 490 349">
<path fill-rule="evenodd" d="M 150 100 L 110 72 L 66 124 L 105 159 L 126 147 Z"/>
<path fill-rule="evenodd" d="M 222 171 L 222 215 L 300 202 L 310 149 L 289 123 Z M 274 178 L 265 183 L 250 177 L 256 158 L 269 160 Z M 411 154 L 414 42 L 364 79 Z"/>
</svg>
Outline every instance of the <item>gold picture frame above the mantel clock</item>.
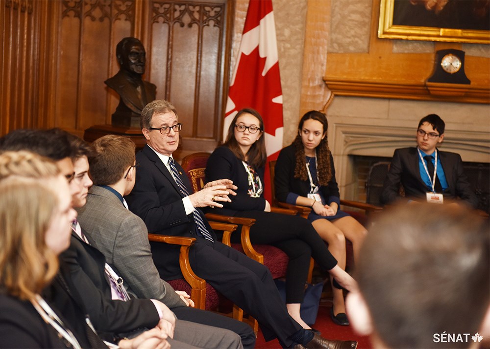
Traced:
<svg viewBox="0 0 490 349">
<path fill-rule="evenodd" d="M 418 5 L 418 11 L 426 10 L 423 7 L 424 0 L 396 0 L 406 1 L 402 3 L 405 8 L 408 5 L 412 5 L 413 8 Z M 432 0 L 434 3 L 437 0 Z M 417 2 L 420 2 L 418 4 Z M 416 3 L 416 4 L 414 4 Z M 420 7 L 420 5 L 422 5 Z M 412 10 L 412 8 L 408 8 Z M 421 41 L 444 41 L 452 43 L 474 43 L 474 44 L 490 44 L 490 30 L 478 30 L 478 29 L 459 29 L 450 27 L 435 27 L 435 26 L 423 26 L 423 25 L 402 25 L 401 23 L 393 24 L 393 13 L 395 10 L 395 0 L 381 0 L 380 13 L 379 13 L 379 26 L 378 26 L 378 38 L 382 39 L 402 39 L 402 40 L 421 40 Z M 400 5 L 397 7 L 397 11 L 400 10 Z M 396 14 L 399 18 L 400 14 Z M 408 18 L 418 18 L 411 14 Z M 487 17 L 488 20 L 488 17 Z M 396 23 L 396 21 L 395 21 Z"/>
</svg>

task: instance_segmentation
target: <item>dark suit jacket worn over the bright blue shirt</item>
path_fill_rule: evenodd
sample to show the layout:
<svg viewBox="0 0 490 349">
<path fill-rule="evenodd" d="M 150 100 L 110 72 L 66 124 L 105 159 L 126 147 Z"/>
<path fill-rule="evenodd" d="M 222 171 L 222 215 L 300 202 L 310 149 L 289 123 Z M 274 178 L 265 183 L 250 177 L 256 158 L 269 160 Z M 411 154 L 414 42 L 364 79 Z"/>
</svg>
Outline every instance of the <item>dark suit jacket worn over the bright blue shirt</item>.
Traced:
<svg viewBox="0 0 490 349">
<path fill-rule="evenodd" d="M 442 169 L 446 176 L 448 188 L 443 196 L 447 199 L 460 197 L 473 207 L 478 206 L 478 198 L 473 192 L 466 175 L 463 172 L 463 161 L 456 153 L 438 151 Z M 390 171 L 386 176 L 381 193 L 381 202 L 390 204 L 399 199 L 400 183 L 405 189 L 405 199 L 418 198 L 425 200 L 428 189 L 420 177 L 417 148 L 396 149 L 393 153 Z"/>
</svg>

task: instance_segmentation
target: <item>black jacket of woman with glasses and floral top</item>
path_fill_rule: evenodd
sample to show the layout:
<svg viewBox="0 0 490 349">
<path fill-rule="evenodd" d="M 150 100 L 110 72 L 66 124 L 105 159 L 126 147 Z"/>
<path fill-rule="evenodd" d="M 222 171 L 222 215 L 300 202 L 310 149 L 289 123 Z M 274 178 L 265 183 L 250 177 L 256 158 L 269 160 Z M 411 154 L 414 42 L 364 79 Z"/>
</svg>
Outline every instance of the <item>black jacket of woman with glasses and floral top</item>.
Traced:
<svg viewBox="0 0 490 349">
<path fill-rule="evenodd" d="M 254 169 L 264 185 L 264 167 Z M 233 181 L 238 189 L 237 195 L 231 196 L 231 202 L 221 202 L 223 208 L 206 208 L 207 212 L 213 212 L 220 215 L 235 216 L 240 211 L 264 211 L 266 199 L 263 195 L 260 197 L 251 197 L 248 195 L 248 175 L 242 160 L 228 147 L 219 147 L 214 150 L 208 159 L 206 165 L 206 182 L 217 179 L 227 178 Z M 212 211 L 211 211 L 212 210 Z"/>
</svg>

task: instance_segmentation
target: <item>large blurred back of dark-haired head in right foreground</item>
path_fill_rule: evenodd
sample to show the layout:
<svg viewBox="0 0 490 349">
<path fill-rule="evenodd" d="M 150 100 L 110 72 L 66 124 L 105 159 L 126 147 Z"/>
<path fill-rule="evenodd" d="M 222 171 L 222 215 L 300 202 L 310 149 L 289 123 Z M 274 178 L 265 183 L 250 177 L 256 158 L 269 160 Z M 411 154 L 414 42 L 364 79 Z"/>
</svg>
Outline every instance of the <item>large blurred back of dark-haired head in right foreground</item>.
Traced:
<svg viewBox="0 0 490 349">
<path fill-rule="evenodd" d="M 462 206 L 386 210 L 356 262 L 361 295 L 385 348 L 447 348 L 443 333 L 469 333 L 469 342 L 450 343 L 469 347 L 489 309 L 489 245 L 488 220 Z"/>
</svg>

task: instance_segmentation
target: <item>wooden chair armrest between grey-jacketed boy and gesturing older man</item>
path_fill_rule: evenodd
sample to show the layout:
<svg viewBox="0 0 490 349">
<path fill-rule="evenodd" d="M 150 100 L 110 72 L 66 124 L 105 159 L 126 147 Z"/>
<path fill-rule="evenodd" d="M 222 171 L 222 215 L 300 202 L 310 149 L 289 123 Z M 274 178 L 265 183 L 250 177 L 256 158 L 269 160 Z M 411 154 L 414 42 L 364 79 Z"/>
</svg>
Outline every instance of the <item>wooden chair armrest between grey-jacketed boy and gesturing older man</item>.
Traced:
<svg viewBox="0 0 490 349">
<path fill-rule="evenodd" d="M 148 240 L 153 242 L 162 242 L 172 245 L 180 245 L 179 264 L 180 271 L 185 281 L 191 285 L 191 299 L 194 301 L 194 307 L 205 309 L 206 305 L 206 281 L 199 278 L 192 270 L 189 262 L 189 248 L 196 242 L 195 238 L 184 238 L 159 234 L 148 234 Z"/>
</svg>

